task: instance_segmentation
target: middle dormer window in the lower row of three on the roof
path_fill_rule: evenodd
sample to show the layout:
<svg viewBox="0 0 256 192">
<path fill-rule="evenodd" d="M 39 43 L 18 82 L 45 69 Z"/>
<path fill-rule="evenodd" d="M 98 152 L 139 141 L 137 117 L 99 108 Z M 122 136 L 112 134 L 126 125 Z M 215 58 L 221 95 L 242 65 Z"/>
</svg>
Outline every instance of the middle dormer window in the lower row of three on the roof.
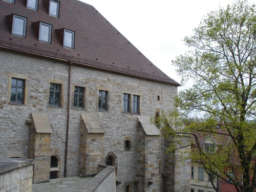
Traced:
<svg viewBox="0 0 256 192">
<path fill-rule="evenodd" d="M 52 25 L 42 22 L 35 22 L 32 23 L 32 26 L 39 41 L 51 43 Z"/>
</svg>

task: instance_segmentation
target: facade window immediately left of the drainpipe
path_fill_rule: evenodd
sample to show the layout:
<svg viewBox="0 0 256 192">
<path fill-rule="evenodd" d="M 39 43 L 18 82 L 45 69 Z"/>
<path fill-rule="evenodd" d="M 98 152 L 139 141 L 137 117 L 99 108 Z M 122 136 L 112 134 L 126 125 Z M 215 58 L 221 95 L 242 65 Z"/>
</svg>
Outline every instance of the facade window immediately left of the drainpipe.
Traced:
<svg viewBox="0 0 256 192">
<path fill-rule="evenodd" d="M 60 84 L 50 83 L 49 105 L 60 106 Z"/>
</svg>

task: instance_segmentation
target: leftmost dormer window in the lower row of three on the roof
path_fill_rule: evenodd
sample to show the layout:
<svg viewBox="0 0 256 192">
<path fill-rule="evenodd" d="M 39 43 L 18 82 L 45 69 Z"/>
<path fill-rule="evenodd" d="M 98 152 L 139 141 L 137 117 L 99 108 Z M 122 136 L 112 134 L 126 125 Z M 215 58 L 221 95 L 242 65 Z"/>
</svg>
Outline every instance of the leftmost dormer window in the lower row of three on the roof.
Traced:
<svg viewBox="0 0 256 192">
<path fill-rule="evenodd" d="M 27 18 L 19 15 L 7 15 L 7 21 L 11 28 L 11 33 L 18 36 L 26 36 Z"/>
</svg>

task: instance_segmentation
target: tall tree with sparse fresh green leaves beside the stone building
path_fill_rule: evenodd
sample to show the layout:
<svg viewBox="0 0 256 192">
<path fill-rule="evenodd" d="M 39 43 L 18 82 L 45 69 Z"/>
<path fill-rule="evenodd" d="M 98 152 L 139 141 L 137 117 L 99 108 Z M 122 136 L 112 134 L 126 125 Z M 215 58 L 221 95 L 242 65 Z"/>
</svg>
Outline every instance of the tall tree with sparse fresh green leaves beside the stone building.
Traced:
<svg viewBox="0 0 256 192">
<path fill-rule="evenodd" d="M 255 5 L 246 0 L 208 13 L 194 35 L 185 37 L 188 51 L 173 61 L 182 84 L 192 79 L 194 85 L 179 92 L 179 113 L 162 112 L 156 121 L 162 136 L 176 141 L 169 152 L 189 146 L 189 158 L 208 175 L 248 192 L 255 191 L 256 173 L 255 33 Z M 181 135 L 190 135 L 190 142 L 181 142 Z M 207 136 L 216 141 L 212 153 L 200 143 Z"/>
</svg>

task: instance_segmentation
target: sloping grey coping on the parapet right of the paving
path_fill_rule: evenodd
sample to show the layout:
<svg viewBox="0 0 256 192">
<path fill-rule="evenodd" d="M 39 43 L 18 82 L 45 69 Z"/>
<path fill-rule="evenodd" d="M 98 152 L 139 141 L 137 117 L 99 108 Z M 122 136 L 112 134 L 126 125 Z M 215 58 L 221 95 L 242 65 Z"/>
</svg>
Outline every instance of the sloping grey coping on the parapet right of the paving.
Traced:
<svg viewBox="0 0 256 192">
<path fill-rule="evenodd" d="M 100 173 L 98 173 L 93 179 L 88 181 L 86 186 L 80 190 L 80 192 L 93 192 L 101 184 L 106 177 L 115 171 L 115 166 L 106 166 Z"/>
</svg>

